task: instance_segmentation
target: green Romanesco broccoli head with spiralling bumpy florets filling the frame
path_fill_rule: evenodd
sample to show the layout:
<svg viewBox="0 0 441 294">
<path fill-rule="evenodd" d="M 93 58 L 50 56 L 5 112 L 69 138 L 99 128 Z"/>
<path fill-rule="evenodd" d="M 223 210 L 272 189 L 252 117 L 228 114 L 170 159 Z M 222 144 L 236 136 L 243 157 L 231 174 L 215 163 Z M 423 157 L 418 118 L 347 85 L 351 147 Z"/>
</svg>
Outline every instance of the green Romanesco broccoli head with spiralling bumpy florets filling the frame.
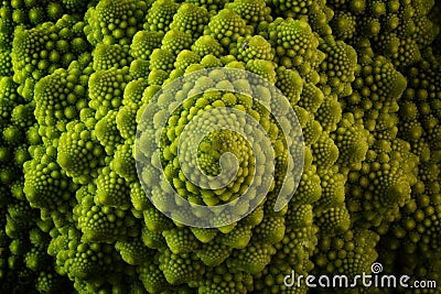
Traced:
<svg viewBox="0 0 441 294">
<path fill-rule="evenodd" d="M 440 13 L 433 0 L 2 1 L 0 292 L 326 293 L 283 277 L 354 276 L 375 261 L 383 273 L 441 283 Z M 216 175 L 220 151 L 243 156 L 236 182 L 208 190 L 185 178 L 176 140 L 204 111 L 249 113 L 276 150 L 265 202 L 204 229 L 150 203 L 133 146 L 154 94 L 211 67 L 277 86 L 299 118 L 305 157 L 293 198 L 273 211 L 288 159 L 270 113 L 228 91 L 186 100 L 161 140 L 164 175 L 182 197 L 228 203 L 254 176 L 249 145 L 218 131 L 197 159 Z M 223 86 L 249 88 L 236 79 Z M 214 81 L 222 76 L 194 87 Z M 152 188 L 175 205 L 168 195 Z"/>
</svg>

